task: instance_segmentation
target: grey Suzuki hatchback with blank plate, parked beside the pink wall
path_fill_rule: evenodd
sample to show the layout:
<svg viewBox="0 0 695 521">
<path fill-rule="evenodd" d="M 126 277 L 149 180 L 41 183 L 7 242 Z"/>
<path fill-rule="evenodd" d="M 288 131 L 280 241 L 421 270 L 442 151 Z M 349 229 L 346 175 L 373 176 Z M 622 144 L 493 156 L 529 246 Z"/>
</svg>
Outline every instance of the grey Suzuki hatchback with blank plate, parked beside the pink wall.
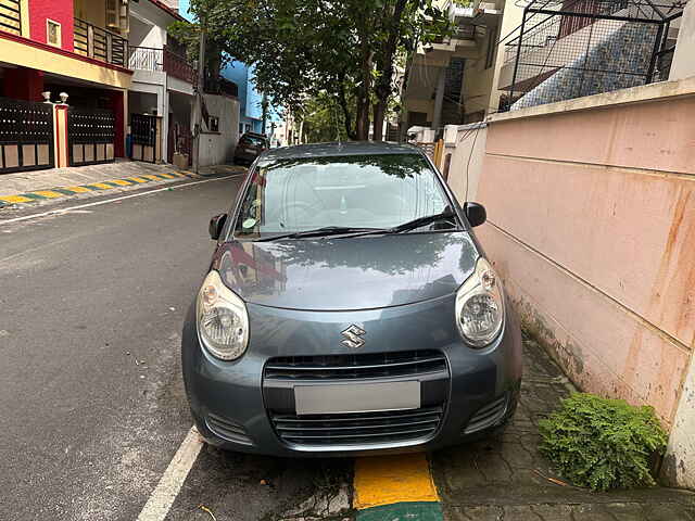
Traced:
<svg viewBox="0 0 695 521">
<path fill-rule="evenodd" d="M 276 456 L 429 450 L 516 408 L 521 333 L 463 207 L 419 149 L 274 149 L 217 240 L 182 333 L 199 432 Z"/>
</svg>

